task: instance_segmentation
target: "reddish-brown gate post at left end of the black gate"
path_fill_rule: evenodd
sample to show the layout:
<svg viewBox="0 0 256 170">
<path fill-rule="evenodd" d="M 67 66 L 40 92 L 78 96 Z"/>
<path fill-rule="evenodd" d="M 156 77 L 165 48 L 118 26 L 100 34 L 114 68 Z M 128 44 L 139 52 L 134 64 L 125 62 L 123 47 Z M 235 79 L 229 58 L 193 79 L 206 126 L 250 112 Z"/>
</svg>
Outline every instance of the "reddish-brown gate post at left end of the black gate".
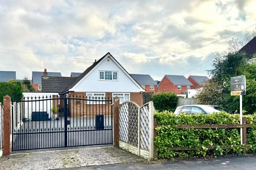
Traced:
<svg viewBox="0 0 256 170">
<path fill-rule="evenodd" d="M 11 154 L 11 97 L 4 96 L 3 115 L 3 156 Z"/>
</svg>

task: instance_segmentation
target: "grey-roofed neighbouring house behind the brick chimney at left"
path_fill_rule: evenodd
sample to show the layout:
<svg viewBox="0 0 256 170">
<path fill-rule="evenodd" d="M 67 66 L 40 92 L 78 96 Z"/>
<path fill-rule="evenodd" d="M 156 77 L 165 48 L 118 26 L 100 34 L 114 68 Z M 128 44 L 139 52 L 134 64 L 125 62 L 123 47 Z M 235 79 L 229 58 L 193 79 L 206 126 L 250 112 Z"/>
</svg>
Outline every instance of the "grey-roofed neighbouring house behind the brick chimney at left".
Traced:
<svg viewBox="0 0 256 170">
<path fill-rule="evenodd" d="M 42 77 L 43 76 L 61 77 L 61 73 L 60 72 L 47 72 L 46 69 L 44 69 L 44 72 L 33 71 L 32 72 L 32 86 L 35 89 L 35 91 L 37 91 L 37 92 L 42 91 Z"/>
</svg>

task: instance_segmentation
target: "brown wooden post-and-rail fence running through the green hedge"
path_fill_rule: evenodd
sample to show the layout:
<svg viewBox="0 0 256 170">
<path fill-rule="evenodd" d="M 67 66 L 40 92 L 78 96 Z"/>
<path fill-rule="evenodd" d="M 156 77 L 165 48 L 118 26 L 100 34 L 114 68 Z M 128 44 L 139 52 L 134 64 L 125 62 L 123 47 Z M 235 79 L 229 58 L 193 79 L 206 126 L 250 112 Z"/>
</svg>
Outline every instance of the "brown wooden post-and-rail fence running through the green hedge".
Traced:
<svg viewBox="0 0 256 170">
<path fill-rule="evenodd" d="M 156 128 L 157 128 L 157 121 L 154 118 L 154 138 L 157 136 Z M 244 148 L 244 154 L 246 153 L 245 148 L 250 147 L 251 145 L 247 145 L 247 128 L 252 128 L 252 125 L 247 124 L 246 117 L 243 117 L 243 124 L 203 124 L 203 125 L 173 125 L 173 128 L 177 129 L 235 129 L 235 128 L 243 128 L 243 145 L 241 147 Z M 219 146 L 221 149 L 231 149 L 229 145 L 222 145 Z M 208 150 L 214 150 L 217 146 L 206 146 Z M 171 151 L 186 151 L 186 150 L 203 150 L 202 147 L 170 147 L 169 150 Z M 157 154 L 157 148 L 154 149 L 154 154 Z"/>
</svg>

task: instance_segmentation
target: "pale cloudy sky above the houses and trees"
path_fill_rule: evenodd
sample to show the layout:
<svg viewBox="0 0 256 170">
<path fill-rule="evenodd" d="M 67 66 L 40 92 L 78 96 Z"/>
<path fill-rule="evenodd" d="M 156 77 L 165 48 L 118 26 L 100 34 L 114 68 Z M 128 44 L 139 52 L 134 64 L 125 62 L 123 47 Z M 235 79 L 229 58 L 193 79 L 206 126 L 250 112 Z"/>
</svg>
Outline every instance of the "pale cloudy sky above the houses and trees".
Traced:
<svg viewBox="0 0 256 170">
<path fill-rule="evenodd" d="M 45 67 L 69 76 L 110 52 L 129 73 L 204 75 L 230 38 L 198 47 L 256 24 L 255 6 L 254 0 L 0 0 L 0 70 L 17 71 L 18 79 Z"/>
</svg>

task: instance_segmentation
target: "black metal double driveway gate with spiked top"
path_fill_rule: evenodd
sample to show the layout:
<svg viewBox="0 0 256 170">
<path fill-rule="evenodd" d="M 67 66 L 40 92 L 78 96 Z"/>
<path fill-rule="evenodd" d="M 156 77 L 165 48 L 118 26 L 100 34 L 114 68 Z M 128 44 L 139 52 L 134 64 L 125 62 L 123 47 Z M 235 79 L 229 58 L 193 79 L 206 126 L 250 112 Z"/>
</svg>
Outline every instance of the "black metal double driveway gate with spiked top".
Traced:
<svg viewBox="0 0 256 170">
<path fill-rule="evenodd" d="M 25 97 L 12 101 L 12 150 L 113 144 L 112 98 Z"/>
</svg>

